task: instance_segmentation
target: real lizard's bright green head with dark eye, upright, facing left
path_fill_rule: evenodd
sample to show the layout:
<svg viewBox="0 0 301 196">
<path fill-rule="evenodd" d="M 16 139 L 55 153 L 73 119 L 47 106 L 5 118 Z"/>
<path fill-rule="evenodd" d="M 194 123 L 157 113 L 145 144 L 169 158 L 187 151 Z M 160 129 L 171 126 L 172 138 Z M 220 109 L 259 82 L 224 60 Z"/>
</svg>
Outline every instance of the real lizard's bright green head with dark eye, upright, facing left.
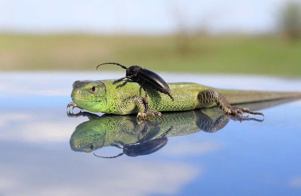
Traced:
<svg viewBox="0 0 301 196">
<path fill-rule="evenodd" d="M 73 82 L 72 101 L 80 108 L 101 112 L 106 105 L 106 88 L 103 83 L 95 80 Z"/>
</svg>

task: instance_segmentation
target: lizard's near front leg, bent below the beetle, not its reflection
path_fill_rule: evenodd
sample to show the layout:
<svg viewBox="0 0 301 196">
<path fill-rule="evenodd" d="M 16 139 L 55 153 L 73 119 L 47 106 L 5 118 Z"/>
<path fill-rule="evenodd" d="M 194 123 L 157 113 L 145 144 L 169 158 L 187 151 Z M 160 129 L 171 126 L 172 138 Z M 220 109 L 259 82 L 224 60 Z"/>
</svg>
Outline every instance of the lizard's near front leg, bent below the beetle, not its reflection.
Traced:
<svg viewBox="0 0 301 196">
<path fill-rule="evenodd" d="M 116 111 L 118 111 L 118 114 L 124 115 L 124 114 L 133 114 L 133 110 L 137 108 L 138 110 L 138 117 L 145 118 L 147 116 L 158 116 L 162 119 L 162 114 L 155 110 L 150 110 L 147 104 L 147 98 L 142 98 L 141 96 L 131 96 L 129 98 L 126 98 L 122 101 L 122 103 L 119 104 L 119 106 L 116 108 Z M 136 113 L 137 114 L 137 113 Z"/>
</svg>

